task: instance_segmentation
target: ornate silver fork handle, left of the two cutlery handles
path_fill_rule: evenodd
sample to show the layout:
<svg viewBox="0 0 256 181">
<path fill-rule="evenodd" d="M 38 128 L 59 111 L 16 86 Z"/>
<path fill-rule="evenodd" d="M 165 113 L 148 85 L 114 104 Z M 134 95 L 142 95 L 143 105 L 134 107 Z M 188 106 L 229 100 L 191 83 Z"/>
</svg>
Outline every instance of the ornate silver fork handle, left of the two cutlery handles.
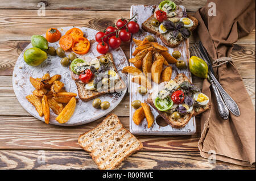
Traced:
<svg viewBox="0 0 256 181">
<path fill-rule="evenodd" d="M 213 92 L 214 92 L 214 94 L 216 96 L 217 107 L 218 107 L 218 112 L 220 113 L 220 116 L 223 119 L 228 119 L 228 117 L 229 117 L 229 110 L 226 107 L 223 99 L 221 98 L 220 92 L 218 91 L 217 86 L 214 83 L 213 79 L 210 79 L 210 84 L 212 85 Z"/>
</svg>

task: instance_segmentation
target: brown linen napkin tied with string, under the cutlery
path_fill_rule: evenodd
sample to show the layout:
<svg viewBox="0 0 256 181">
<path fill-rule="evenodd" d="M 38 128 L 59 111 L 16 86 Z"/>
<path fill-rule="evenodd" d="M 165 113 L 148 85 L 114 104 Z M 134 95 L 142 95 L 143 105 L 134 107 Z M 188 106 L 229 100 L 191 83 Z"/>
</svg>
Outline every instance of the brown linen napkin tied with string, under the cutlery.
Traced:
<svg viewBox="0 0 256 181">
<path fill-rule="evenodd" d="M 209 2 L 216 4 L 216 16 L 209 16 Z M 196 12 L 199 20 L 197 33 L 210 58 L 229 56 L 239 38 L 248 35 L 255 27 L 255 0 L 208 1 Z M 212 108 L 201 116 L 201 156 L 209 158 L 209 151 L 216 152 L 216 159 L 243 166 L 255 166 L 255 111 L 242 78 L 232 62 L 222 64 L 216 70 L 218 81 L 236 101 L 241 115 L 230 113 L 223 120 L 217 110 L 216 99 L 205 79 L 203 92 L 211 98 Z"/>
</svg>

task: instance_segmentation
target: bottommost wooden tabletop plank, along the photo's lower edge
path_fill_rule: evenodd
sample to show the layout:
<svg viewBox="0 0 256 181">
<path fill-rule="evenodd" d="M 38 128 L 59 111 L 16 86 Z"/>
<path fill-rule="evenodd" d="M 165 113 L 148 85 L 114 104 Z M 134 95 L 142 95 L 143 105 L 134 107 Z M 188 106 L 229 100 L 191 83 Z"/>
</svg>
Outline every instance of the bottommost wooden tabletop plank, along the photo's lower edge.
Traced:
<svg viewBox="0 0 256 181">
<path fill-rule="evenodd" d="M 45 163 L 40 155 L 44 153 Z M 39 160 L 39 162 L 38 162 Z M 85 151 L 11 150 L 0 151 L 0 169 L 97 169 Z M 126 159 L 117 169 L 255 169 L 208 159 L 199 153 L 139 151 Z"/>
</svg>

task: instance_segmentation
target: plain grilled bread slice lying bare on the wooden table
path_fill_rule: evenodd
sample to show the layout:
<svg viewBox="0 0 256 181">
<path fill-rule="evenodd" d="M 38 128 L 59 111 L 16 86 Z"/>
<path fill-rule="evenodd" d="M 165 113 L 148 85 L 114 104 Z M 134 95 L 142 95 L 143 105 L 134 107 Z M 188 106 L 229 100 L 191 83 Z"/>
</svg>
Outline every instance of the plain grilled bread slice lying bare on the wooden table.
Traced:
<svg viewBox="0 0 256 181">
<path fill-rule="evenodd" d="M 106 116 L 96 128 L 81 134 L 78 142 L 101 170 L 115 169 L 143 148 L 142 142 L 127 131 L 114 114 Z"/>
</svg>

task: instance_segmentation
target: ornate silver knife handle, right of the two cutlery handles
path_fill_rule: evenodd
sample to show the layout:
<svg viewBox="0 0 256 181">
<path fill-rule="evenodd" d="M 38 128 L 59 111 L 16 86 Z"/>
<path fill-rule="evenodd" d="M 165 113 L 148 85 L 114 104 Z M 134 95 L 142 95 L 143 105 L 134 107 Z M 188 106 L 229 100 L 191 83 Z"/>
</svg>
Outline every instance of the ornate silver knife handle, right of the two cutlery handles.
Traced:
<svg viewBox="0 0 256 181">
<path fill-rule="evenodd" d="M 218 87 L 218 90 L 220 91 L 220 94 L 228 107 L 229 111 L 232 112 L 236 116 L 240 116 L 240 110 L 236 104 L 236 102 L 229 96 L 229 94 L 222 88 L 220 83 L 217 81 L 217 79 L 214 77 L 211 71 L 209 71 L 210 77 L 213 79 L 214 83 L 216 83 L 216 86 Z"/>
</svg>

